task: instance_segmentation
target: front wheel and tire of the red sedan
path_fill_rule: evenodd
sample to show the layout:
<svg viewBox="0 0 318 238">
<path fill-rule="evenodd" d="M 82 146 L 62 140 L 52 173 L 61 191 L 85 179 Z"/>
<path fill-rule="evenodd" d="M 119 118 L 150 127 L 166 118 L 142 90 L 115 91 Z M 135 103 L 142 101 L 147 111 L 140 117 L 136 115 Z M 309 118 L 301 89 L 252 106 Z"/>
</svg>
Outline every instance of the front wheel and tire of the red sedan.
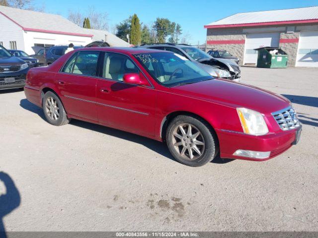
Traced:
<svg viewBox="0 0 318 238">
<path fill-rule="evenodd" d="M 168 124 L 166 143 L 177 161 L 192 167 L 212 161 L 219 150 L 217 135 L 211 126 L 203 119 L 185 115 L 175 117 Z"/>
</svg>

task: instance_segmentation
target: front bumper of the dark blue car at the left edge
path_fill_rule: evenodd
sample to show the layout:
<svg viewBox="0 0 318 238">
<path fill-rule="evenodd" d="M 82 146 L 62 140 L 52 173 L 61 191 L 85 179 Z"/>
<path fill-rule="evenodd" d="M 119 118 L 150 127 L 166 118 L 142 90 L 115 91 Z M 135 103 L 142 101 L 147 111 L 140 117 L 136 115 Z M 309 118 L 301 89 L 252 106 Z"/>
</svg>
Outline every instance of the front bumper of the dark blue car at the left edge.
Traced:
<svg viewBox="0 0 318 238">
<path fill-rule="evenodd" d="M 29 68 L 10 72 L 10 73 L 0 73 L 0 90 L 9 88 L 22 88 L 25 85 L 25 78 Z M 14 82 L 5 82 L 5 78 L 14 78 Z"/>
</svg>

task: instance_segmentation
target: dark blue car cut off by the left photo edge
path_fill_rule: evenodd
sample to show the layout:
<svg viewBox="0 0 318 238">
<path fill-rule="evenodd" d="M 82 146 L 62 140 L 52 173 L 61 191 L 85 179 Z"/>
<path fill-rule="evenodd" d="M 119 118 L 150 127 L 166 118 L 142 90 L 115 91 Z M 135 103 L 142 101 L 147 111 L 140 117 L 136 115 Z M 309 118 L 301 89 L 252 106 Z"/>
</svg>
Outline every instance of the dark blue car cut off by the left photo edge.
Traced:
<svg viewBox="0 0 318 238">
<path fill-rule="evenodd" d="M 0 45 L 0 89 L 22 88 L 29 66 Z"/>
</svg>

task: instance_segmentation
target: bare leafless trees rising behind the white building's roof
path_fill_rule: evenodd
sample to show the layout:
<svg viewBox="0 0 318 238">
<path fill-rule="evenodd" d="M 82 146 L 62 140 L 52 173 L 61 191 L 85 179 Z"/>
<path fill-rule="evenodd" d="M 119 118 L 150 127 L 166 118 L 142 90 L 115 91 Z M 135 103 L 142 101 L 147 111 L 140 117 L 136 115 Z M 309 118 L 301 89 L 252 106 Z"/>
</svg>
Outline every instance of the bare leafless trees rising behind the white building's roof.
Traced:
<svg viewBox="0 0 318 238">
<path fill-rule="evenodd" d="M 107 12 L 98 12 L 93 6 L 90 6 L 86 13 L 69 10 L 68 19 L 80 27 L 82 27 L 85 17 L 88 17 L 91 29 L 108 30 Z"/>
</svg>

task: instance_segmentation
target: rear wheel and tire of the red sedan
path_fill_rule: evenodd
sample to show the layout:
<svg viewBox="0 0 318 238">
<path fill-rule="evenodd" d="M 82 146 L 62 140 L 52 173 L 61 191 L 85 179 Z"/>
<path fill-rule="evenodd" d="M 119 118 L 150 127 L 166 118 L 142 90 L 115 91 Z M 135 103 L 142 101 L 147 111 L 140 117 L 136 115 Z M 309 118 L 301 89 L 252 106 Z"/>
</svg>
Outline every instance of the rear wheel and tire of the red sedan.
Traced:
<svg viewBox="0 0 318 238">
<path fill-rule="evenodd" d="M 51 91 L 44 95 L 42 109 L 46 120 L 52 125 L 59 126 L 70 122 L 60 98 Z"/>
</svg>

